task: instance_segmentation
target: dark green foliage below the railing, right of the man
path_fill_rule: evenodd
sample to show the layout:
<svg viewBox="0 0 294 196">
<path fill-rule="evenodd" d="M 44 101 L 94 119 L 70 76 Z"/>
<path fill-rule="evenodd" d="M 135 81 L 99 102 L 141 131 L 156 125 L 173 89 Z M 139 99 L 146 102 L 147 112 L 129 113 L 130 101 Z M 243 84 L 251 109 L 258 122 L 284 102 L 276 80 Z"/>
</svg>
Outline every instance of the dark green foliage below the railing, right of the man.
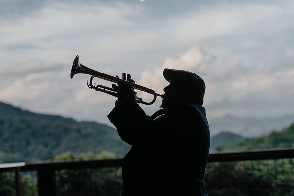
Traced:
<svg viewBox="0 0 294 196">
<path fill-rule="evenodd" d="M 293 159 L 209 163 L 209 196 L 293 196 Z"/>
</svg>

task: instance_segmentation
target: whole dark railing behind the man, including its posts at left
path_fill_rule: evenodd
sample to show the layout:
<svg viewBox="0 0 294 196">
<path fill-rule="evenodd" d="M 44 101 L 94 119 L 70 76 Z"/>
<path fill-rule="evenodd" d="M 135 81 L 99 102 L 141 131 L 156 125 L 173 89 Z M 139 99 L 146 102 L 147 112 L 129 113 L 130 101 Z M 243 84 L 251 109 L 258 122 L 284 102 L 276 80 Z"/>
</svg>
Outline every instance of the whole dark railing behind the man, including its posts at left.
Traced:
<svg viewBox="0 0 294 196">
<path fill-rule="evenodd" d="M 209 154 L 208 162 L 235 162 L 256 160 L 277 160 L 294 158 L 294 148 L 251 150 L 242 152 L 221 152 Z M 20 172 L 37 171 L 37 186 L 39 196 L 56 196 L 56 171 L 75 169 L 98 169 L 120 167 L 122 159 L 94 161 L 63 161 L 46 163 L 19 163 L 19 165 L 0 164 L 0 172 L 14 171 L 16 196 L 21 195 Z M 209 174 L 209 173 L 208 173 Z"/>
</svg>

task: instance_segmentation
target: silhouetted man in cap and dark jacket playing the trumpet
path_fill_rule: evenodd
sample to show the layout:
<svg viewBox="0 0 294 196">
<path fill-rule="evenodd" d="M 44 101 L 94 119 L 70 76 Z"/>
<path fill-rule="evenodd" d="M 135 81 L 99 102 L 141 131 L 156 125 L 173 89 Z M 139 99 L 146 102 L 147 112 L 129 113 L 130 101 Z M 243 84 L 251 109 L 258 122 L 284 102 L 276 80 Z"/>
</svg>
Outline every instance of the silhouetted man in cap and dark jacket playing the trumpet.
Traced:
<svg viewBox="0 0 294 196">
<path fill-rule="evenodd" d="M 207 196 L 204 172 L 210 134 L 202 107 L 205 84 L 195 73 L 164 69 L 162 109 L 151 117 L 129 85 L 108 115 L 132 147 L 123 159 L 122 196 Z M 123 79 L 133 82 L 130 75 Z"/>
</svg>

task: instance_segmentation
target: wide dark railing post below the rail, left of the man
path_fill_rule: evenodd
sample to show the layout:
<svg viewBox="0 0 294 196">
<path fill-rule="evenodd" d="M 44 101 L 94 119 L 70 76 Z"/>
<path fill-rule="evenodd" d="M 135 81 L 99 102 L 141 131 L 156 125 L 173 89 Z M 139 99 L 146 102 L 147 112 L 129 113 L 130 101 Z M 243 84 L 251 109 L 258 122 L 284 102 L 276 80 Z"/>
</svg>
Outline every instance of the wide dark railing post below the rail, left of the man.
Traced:
<svg viewBox="0 0 294 196">
<path fill-rule="evenodd" d="M 56 196 L 56 175 L 54 169 L 38 170 L 39 196 Z"/>
</svg>

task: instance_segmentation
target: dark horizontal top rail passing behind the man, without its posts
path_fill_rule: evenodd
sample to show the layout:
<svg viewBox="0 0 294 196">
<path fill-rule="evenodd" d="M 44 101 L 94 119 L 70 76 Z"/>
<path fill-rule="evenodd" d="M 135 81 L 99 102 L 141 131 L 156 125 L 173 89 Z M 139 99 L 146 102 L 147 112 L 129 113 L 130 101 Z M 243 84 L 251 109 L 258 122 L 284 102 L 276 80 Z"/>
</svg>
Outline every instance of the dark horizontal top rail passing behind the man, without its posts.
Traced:
<svg viewBox="0 0 294 196">
<path fill-rule="evenodd" d="M 209 154 L 208 162 L 267 160 L 282 158 L 294 158 L 294 148 L 211 153 Z M 21 167 L 21 170 L 29 171 L 43 169 L 62 170 L 120 167 L 122 162 L 123 159 L 26 163 L 25 166 Z"/>
</svg>

